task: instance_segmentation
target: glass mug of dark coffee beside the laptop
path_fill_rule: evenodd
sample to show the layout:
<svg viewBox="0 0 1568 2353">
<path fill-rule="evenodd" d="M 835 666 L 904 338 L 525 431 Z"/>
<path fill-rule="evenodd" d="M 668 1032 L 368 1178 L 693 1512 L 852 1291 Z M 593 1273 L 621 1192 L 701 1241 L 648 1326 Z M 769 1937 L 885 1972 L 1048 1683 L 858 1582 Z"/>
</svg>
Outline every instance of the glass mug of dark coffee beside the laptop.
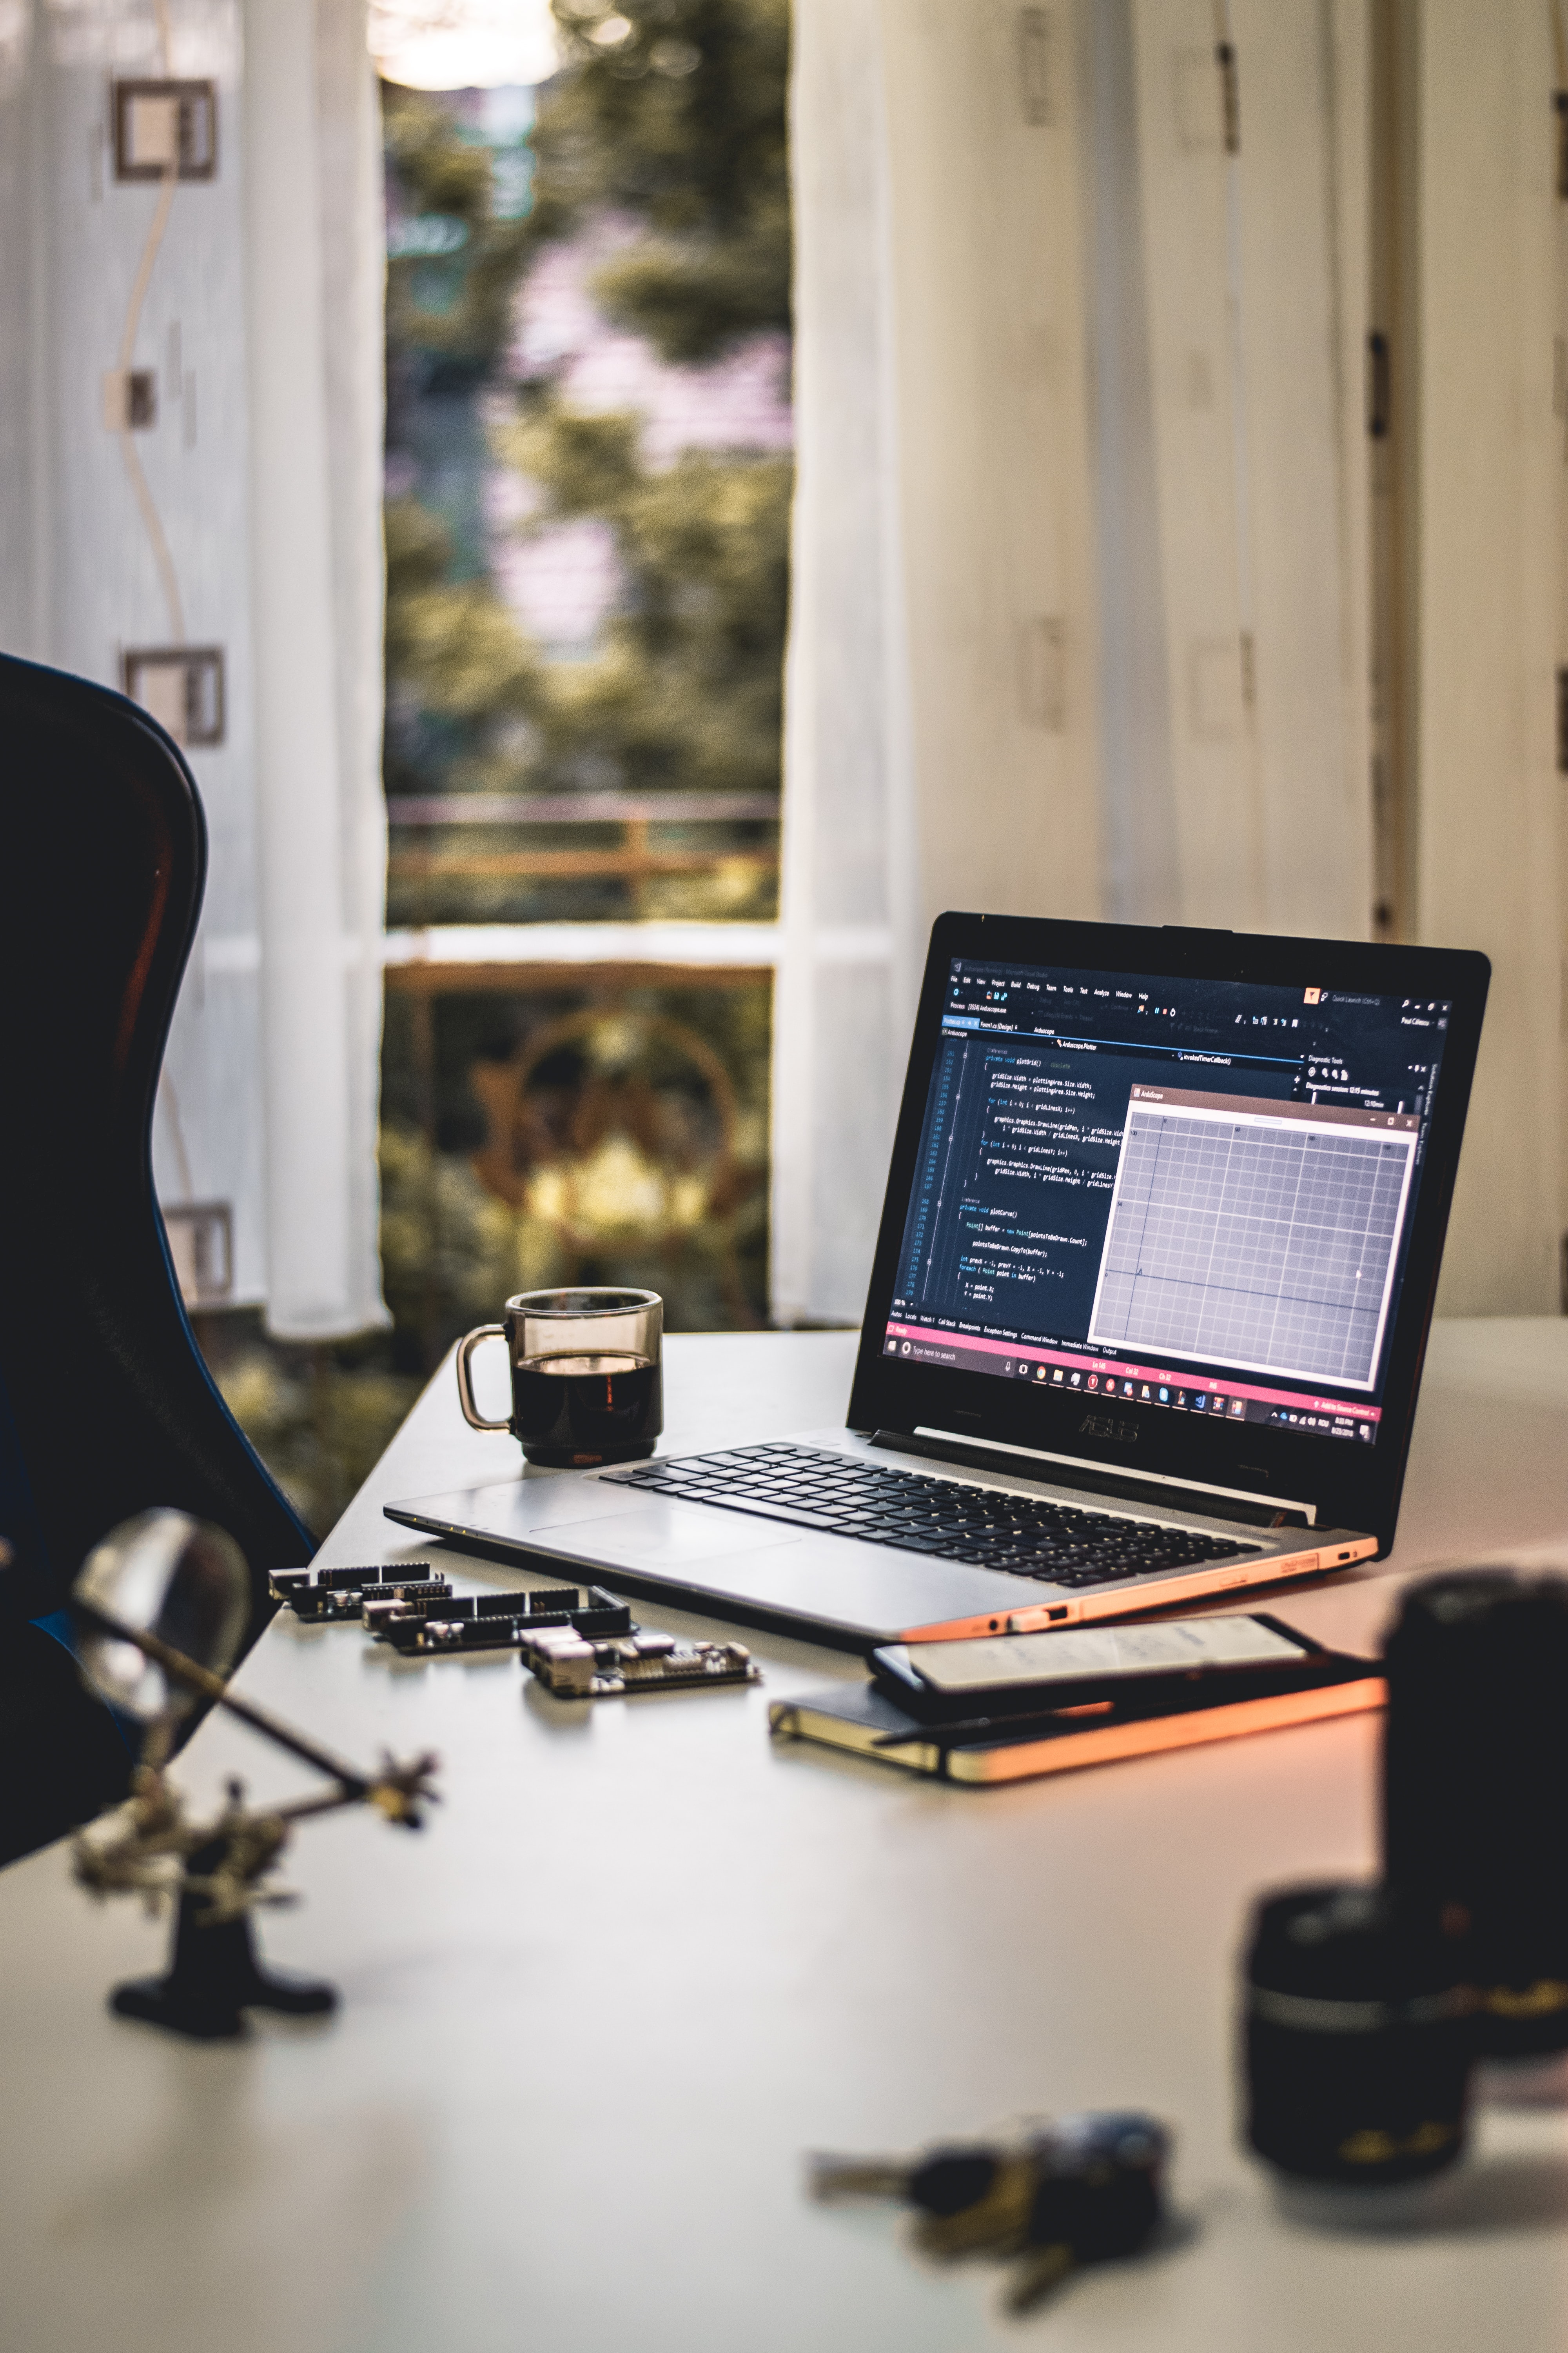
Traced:
<svg viewBox="0 0 1568 2353">
<path fill-rule="evenodd" d="M 520 1292 L 505 1322 L 458 1341 L 458 1405 L 475 1431 L 510 1431 L 527 1461 L 588 1468 L 642 1461 L 665 1426 L 658 1292 L 609 1287 Z M 487 1421 L 473 1395 L 473 1353 L 503 1339 L 512 1360 L 510 1421 Z"/>
</svg>

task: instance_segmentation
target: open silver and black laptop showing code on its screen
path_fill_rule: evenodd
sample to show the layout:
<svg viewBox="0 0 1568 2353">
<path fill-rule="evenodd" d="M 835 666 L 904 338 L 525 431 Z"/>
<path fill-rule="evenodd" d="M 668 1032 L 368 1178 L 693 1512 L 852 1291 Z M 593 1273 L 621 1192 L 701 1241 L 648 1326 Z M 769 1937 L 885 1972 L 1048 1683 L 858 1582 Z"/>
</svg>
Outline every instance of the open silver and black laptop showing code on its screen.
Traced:
<svg viewBox="0 0 1568 2353">
<path fill-rule="evenodd" d="M 940 915 L 846 1426 L 386 1513 L 856 1649 L 1380 1558 L 1488 976 Z"/>
</svg>

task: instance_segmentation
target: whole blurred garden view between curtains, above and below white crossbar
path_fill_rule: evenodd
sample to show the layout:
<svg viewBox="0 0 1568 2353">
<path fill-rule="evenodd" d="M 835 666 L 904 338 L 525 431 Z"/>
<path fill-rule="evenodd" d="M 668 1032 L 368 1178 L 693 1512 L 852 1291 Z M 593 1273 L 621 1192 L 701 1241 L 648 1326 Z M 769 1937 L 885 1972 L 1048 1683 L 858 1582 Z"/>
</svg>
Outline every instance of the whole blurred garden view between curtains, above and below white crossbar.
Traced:
<svg viewBox="0 0 1568 2353">
<path fill-rule="evenodd" d="M 383 85 L 393 1332 L 219 1348 L 317 1527 L 508 1292 L 766 1320 L 769 969 L 534 941 L 776 915 L 788 0 L 555 24 L 538 89 Z"/>
</svg>

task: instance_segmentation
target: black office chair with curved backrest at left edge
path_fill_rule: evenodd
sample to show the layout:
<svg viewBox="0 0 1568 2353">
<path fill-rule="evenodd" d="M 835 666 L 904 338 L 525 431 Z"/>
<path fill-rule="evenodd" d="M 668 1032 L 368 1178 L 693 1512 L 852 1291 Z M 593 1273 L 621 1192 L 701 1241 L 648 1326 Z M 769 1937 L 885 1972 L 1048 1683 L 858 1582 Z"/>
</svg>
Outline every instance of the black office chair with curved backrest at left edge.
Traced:
<svg viewBox="0 0 1568 2353">
<path fill-rule="evenodd" d="M 0 654 L 0 1861 L 125 1793 L 63 1605 L 118 1520 L 172 1504 L 268 1572 L 313 1537 L 190 1334 L 153 1101 L 207 875 L 190 769 L 146 711 Z"/>
</svg>

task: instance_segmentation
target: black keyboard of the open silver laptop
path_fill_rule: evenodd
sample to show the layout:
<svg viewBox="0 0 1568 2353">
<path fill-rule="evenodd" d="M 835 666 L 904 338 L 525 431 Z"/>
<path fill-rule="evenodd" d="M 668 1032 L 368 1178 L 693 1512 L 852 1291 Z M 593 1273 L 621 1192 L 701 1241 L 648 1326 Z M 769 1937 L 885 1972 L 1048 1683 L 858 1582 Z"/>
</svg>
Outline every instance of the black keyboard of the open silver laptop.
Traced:
<svg viewBox="0 0 1568 2353">
<path fill-rule="evenodd" d="M 1150 1569 L 1187 1569 L 1262 1551 L 1260 1544 L 1232 1544 L 1112 1511 L 1079 1511 L 1044 1497 L 964 1487 L 788 1440 L 661 1459 L 635 1471 L 607 1471 L 604 1478 L 646 1494 L 670 1494 L 682 1504 L 719 1504 L 762 1520 L 788 1520 L 790 1527 L 891 1544 L 900 1553 L 936 1553 L 938 1560 L 969 1560 L 980 1569 L 1039 1577 L 1053 1586 L 1103 1586 L 1119 1577 L 1147 1577 Z"/>
</svg>

